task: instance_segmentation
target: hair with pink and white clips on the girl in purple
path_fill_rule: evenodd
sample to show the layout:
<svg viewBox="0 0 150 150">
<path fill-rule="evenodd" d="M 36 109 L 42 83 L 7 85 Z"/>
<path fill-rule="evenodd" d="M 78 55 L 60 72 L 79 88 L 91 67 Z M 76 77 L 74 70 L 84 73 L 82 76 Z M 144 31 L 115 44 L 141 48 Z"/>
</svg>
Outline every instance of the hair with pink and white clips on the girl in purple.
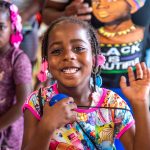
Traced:
<svg viewBox="0 0 150 150">
<path fill-rule="evenodd" d="M 18 48 L 23 37 L 21 34 L 22 31 L 22 24 L 21 24 L 21 17 L 18 14 L 18 8 L 16 5 L 5 1 L 0 0 L 0 12 L 4 12 L 7 14 L 7 17 L 10 19 L 12 34 L 10 36 L 10 44 Z"/>
</svg>

